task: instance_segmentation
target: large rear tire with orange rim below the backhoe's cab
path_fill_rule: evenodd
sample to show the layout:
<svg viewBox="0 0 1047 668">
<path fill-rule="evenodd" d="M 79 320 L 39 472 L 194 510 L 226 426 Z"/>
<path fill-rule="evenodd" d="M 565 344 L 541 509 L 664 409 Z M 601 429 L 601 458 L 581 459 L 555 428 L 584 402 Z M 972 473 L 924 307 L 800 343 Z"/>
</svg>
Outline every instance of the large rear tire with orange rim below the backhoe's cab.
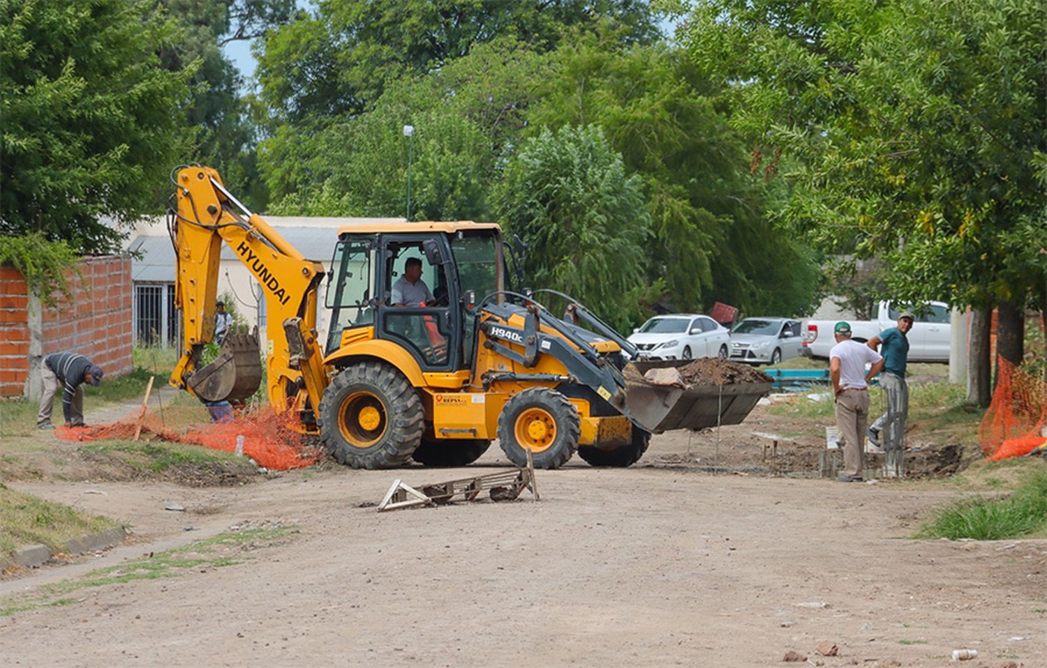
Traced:
<svg viewBox="0 0 1047 668">
<path fill-rule="evenodd" d="M 320 399 L 320 443 L 353 468 L 402 466 L 422 440 L 418 392 L 395 367 L 356 364 L 336 375 Z"/>
</svg>

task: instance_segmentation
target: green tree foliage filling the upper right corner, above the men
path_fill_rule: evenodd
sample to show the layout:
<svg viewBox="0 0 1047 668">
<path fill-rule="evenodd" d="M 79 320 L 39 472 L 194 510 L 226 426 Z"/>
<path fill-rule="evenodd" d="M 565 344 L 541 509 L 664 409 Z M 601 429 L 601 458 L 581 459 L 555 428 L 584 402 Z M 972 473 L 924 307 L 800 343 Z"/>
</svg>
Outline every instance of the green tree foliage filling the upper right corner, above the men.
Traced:
<svg viewBox="0 0 1047 668">
<path fill-rule="evenodd" d="M 776 156 L 785 222 L 882 254 L 892 297 L 980 306 L 1043 302 L 1045 32 L 1013 0 L 708 0 L 682 39 Z"/>
</svg>

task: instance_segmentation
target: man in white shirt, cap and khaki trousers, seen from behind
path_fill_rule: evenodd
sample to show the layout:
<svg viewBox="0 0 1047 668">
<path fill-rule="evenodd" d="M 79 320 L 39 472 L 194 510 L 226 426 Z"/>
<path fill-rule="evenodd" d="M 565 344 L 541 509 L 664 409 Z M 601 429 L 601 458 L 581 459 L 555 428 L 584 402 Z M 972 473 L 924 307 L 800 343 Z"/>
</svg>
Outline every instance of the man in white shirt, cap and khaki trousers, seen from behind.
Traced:
<svg viewBox="0 0 1047 668">
<path fill-rule="evenodd" d="M 850 323 L 832 327 L 837 345 L 829 350 L 829 375 L 837 401 L 837 429 L 844 441 L 844 473 L 838 482 L 860 482 L 865 432 L 869 422 L 869 381 L 884 368 L 879 353 L 851 341 Z M 868 372 L 865 365 L 871 364 Z"/>
</svg>

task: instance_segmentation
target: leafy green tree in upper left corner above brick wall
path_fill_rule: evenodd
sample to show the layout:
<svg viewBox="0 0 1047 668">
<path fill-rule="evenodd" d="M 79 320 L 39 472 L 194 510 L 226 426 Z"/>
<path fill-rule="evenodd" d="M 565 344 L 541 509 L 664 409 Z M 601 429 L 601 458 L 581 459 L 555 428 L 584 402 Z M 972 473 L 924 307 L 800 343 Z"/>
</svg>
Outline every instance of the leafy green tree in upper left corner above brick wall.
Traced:
<svg viewBox="0 0 1047 668">
<path fill-rule="evenodd" d="M 184 145 L 192 70 L 159 67 L 174 23 L 149 0 L 0 0 L 0 234 L 84 253 L 155 213 Z"/>
</svg>

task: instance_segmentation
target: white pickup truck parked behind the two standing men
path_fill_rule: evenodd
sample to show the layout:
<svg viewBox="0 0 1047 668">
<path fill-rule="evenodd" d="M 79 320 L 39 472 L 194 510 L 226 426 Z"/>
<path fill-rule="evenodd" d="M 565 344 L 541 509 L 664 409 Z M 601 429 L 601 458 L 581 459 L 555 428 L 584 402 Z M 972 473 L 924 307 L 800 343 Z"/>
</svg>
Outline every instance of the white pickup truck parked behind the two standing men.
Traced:
<svg viewBox="0 0 1047 668">
<path fill-rule="evenodd" d="M 913 328 L 909 330 L 909 362 L 949 362 L 949 305 L 940 301 L 927 302 L 912 308 L 916 314 Z M 851 339 L 866 342 L 888 327 L 898 324 L 900 310 L 891 302 L 876 304 L 875 319 L 847 320 L 851 326 Z M 836 345 L 832 326 L 839 320 L 808 320 L 803 323 L 803 344 L 800 354 L 806 358 L 827 360 L 829 350 Z"/>
</svg>

